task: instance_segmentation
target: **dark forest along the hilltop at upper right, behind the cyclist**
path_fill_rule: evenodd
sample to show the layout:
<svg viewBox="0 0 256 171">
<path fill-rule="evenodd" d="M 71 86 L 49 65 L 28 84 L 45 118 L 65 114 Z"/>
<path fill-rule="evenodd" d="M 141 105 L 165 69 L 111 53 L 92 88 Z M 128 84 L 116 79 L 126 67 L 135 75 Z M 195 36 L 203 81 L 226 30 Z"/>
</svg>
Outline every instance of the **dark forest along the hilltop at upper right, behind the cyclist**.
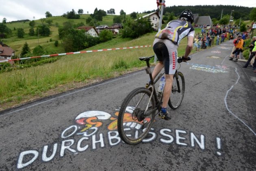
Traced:
<svg viewBox="0 0 256 171">
<path fill-rule="evenodd" d="M 232 16 L 234 19 L 249 20 L 249 13 L 253 8 L 245 6 L 234 6 L 234 5 L 196 5 L 196 6 L 167 6 L 165 8 L 165 13 L 174 13 L 175 16 L 180 15 L 181 11 L 184 9 L 190 9 L 193 14 L 199 14 L 199 16 L 208 16 L 213 19 L 221 19 L 221 12 L 223 15 L 230 15 L 232 11 Z"/>
</svg>

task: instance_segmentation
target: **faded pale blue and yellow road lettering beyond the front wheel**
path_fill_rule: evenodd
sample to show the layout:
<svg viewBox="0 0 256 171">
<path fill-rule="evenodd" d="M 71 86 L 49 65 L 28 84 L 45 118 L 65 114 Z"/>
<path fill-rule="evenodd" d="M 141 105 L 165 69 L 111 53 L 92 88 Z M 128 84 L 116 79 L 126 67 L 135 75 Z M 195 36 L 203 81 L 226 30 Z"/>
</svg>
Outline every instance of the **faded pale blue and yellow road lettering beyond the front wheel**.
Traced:
<svg viewBox="0 0 256 171">
<path fill-rule="evenodd" d="M 226 65 L 203 65 L 203 64 L 193 64 L 193 63 L 187 63 L 188 65 L 191 65 L 189 69 L 197 70 L 197 71 L 205 71 L 210 73 L 228 73 L 227 70 L 229 70 L 229 67 Z"/>
</svg>

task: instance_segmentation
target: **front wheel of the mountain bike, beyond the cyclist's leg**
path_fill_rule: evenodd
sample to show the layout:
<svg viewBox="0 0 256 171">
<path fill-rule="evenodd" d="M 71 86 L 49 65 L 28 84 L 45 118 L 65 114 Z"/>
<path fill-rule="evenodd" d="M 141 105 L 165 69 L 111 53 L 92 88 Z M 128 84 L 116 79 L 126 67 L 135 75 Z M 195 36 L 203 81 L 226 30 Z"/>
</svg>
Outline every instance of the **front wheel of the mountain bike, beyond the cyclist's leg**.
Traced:
<svg viewBox="0 0 256 171">
<path fill-rule="evenodd" d="M 184 97 L 184 92 L 185 92 L 184 76 L 179 71 L 177 75 L 178 75 L 178 78 L 176 78 L 174 75 L 174 81 L 171 87 L 171 96 L 168 101 L 168 105 L 169 107 L 171 107 L 171 109 L 177 109 L 180 106 L 182 99 Z M 180 87 L 180 92 L 178 92 L 178 87 Z"/>
</svg>

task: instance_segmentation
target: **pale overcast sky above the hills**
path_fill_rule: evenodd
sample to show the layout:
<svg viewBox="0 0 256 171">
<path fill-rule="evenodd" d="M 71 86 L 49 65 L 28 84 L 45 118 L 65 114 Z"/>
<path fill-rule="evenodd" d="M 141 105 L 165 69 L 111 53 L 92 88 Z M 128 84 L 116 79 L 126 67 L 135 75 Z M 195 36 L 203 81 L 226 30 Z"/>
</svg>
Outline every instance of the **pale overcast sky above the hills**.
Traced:
<svg viewBox="0 0 256 171">
<path fill-rule="evenodd" d="M 78 11 L 82 9 L 84 14 L 93 13 L 94 9 L 108 11 L 115 9 L 115 14 L 119 15 L 121 9 L 126 14 L 132 12 L 142 13 L 143 11 L 152 11 L 157 9 L 156 0 L 0 0 L 0 22 L 3 18 L 7 22 L 22 19 L 41 19 L 45 18 L 46 11 L 53 16 L 60 16 L 67 11 Z M 165 0 L 166 6 L 178 5 L 235 5 L 256 7 L 255 0 Z M 193 11 L 192 11 L 193 12 Z"/>
</svg>

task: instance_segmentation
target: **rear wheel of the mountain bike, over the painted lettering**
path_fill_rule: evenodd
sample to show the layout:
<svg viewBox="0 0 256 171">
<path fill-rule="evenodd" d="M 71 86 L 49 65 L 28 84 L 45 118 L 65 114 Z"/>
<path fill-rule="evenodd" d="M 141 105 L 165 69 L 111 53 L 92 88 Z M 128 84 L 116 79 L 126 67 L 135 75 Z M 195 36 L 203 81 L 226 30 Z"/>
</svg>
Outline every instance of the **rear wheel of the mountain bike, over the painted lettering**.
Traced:
<svg viewBox="0 0 256 171">
<path fill-rule="evenodd" d="M 138 144 L 148 135 L 156 111 L 155 100 L 150 99 L 150 95 L 147 88 L 137 88 L 124 99 L 117 118 L 117 129 L 125 143 Z"/>
</svg>

